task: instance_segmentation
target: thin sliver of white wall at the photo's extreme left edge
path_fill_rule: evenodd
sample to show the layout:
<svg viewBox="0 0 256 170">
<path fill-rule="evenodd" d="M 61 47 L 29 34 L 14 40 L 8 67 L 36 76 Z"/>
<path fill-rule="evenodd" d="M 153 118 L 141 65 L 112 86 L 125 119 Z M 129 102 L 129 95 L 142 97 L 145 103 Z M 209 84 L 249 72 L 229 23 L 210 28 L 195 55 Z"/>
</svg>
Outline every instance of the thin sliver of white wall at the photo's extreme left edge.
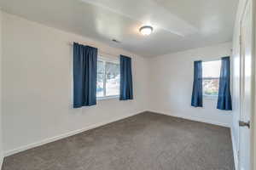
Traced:
<svg viewBox="0 0 256 170">
<path fill-rule="evenodd" d="M 2 129 L 2 11 L 0 10 L 0 169 L 3 163 L 3 129 Z"/>
</svg>

